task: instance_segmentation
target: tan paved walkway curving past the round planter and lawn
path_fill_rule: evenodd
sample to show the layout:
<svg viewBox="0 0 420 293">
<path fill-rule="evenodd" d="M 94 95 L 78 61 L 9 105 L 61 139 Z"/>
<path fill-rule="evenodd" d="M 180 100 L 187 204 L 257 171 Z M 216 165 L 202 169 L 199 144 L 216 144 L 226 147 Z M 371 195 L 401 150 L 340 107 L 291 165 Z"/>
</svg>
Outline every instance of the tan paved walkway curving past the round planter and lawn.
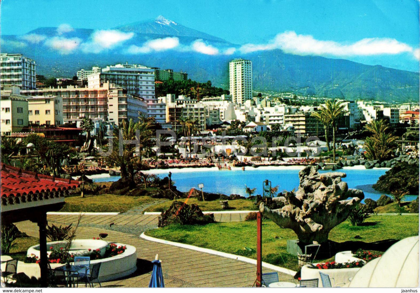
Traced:
<svg viewBox="0 0 420 293">
<path fill-rule="evenodd" d="M 76 224 L 77 215 L 48 215 L 55 225 Z M 112 224 L 110 226 L 110 224 Z M 90 239 L 108 233 L 106 240 L 130 244 L 137 249 L 137 272 L 121 280 L 102 283 L 102 287 L 147 287 L 150 262 L 159 254 L 166 287 L 250 287 L 255 281 L 256 267 L 223 256 L 179 248 L 139 238 L 144 231 L 157 225 L 157 215 L 84 215 L 76 237 Z M 19 230 L 38 237 L 35 223 L 17 223 Z M 146 229 L 147 228 L 147 229 Z M 263 268 L 263 272 L 272 272 Z M 295 282 L 293 276 L 278 272 L 279 280 Z"/>
</svg>

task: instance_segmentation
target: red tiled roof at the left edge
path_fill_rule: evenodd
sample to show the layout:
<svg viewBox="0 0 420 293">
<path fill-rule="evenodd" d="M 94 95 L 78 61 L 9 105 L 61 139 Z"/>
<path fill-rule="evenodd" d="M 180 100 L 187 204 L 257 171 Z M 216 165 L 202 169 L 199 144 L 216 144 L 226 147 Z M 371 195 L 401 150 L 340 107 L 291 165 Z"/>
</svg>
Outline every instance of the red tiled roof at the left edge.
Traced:
<svg viewBox="0 0 420 293">
<path fill-rule="evenodd" d="M 79 186 L 79 181 L 53 178 L 1 163 L 1 197 L 40 192 L 64 191 Z"/>
</svg>

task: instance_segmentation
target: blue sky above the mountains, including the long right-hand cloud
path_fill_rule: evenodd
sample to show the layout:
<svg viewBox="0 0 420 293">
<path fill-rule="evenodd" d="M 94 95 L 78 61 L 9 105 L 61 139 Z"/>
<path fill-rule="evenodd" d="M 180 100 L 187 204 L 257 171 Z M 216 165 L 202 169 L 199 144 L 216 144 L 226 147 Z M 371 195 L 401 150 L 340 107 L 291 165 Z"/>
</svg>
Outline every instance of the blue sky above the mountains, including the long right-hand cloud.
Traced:
<svg viewBox="0 0 420 293">
<path fill-rule="evenodd" d="M 419 71 L 418 0 L 2 0 L 1 33 L 62 24 L 103 30 L 158 15 L 238 44 L 241 52 L 279 48 Z"/>
</svg>

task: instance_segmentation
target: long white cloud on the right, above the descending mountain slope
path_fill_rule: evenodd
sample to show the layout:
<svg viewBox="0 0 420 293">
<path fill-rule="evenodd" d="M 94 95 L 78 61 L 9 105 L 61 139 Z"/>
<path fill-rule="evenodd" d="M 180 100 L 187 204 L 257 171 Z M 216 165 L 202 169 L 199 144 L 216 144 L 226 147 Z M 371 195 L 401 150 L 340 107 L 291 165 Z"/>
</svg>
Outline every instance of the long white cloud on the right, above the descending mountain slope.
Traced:
<svg viewBox="0 0 420 293">
<path fill-rule="evenodd" d="M 366 38 L 353 44 L 340 44 L 334 41 L 321 41 L 310 35 L 286 31 L 278 34 L 267 44 L 245 44 L 239 50 L 243 53 L 281 49 L 286 53 L 297 55 L 333 55 L 333 56 L 367 56 L 380 54 L 399 54 L 412 52 L 407 44 L 390 38 Z"/>
</svg>

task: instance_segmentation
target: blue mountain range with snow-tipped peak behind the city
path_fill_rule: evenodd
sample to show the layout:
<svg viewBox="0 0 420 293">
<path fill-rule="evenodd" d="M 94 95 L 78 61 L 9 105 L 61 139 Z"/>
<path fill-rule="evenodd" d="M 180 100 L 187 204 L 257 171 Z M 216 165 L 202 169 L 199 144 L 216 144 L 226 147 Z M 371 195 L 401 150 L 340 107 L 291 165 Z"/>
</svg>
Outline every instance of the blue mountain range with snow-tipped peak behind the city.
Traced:
<svg viewBox="0 0 420 293">
<path fill-rule="evenodd" d="M 139 63 L 184 71 L 189 78 L 228 89 L 228 63 L 252 61 L 254 90 L 388 102 L 418 101 L 419 73 L 344 59 L 287 54 L 279 49 L 227 54 L 238 48 L 219 37 L 159 16 L 112 29 L 40 27 L 24 35 L 3 35 L 2 52 L 22 53 L 37 73 L 69 77 L 81 68 Z M 113 40 L 118 43 L 113 44 Z M 173 44 L 173 48 L 161 47 Z M 230 49 L 229 49 L 230 48 Z"/>
</svg>

